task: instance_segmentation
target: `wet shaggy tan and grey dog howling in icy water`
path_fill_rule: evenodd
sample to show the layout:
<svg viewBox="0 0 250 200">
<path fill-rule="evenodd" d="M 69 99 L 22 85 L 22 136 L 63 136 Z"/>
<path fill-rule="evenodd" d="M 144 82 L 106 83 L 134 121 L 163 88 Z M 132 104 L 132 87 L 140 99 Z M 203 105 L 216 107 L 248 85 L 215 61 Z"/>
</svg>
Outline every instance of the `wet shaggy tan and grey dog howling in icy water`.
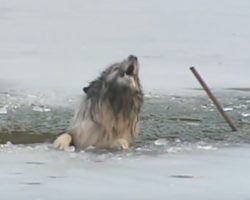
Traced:
<svg viewBox="0 0 250 200">
<path fill-rule="evenodd" d="M 139 63 L 134 55 L 104 70 L 87 87 L 79 109 L 67 133 L 60 135 L 54 146 L 77 149 L 128 149 L 138 135 L 143 91 Z"/>
</svg>

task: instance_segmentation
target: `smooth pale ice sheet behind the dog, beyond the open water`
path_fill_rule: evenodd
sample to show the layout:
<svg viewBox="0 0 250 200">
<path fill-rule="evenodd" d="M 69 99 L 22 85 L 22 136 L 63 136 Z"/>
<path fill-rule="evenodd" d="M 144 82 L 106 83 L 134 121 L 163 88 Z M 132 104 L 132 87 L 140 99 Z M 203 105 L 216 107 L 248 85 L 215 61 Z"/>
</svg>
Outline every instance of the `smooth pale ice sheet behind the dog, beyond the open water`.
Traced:
<svg viewBox="0 0 250 200">
<path fill-rule="evenodd" d="M 0 80 L 81 91 L 136 54 L 147 91 L 249 87 L 250 1 L 1 0 Z M 2 85 L 2 84 L 1 84 Z"/>
</svg>

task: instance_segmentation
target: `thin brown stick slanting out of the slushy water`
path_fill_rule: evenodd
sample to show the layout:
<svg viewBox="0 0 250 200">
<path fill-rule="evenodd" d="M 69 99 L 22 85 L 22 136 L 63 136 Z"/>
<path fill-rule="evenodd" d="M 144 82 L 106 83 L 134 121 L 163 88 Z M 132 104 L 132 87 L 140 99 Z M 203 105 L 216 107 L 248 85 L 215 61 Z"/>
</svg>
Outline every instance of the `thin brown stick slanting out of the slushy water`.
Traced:
<svg viewBox="0 0 250 200">
<path fill-rule="evenodd" d="M 203 89 L 206 91 L 207 95 L 210 97 L 210 99 L 214 102 L 215 106 L 221 113 L 221 115 L 224 117 L 226 122 L 229 124 L 229 126 L 232 128 L 232 131 L 237 131 L 236 126 L 234 125 L 231 118 L 227 115 L 227 113 L 224 111 L 223 106 L 220 104 L 218 99 L 214 96 L 214 94 L 211 92 L 205 81 L 201 78 L 195 67 L 190 67 L 190 70 L 193 72 L 194 76 L 197 78 L 197 80 L 202 85 Z"/>
</svg>

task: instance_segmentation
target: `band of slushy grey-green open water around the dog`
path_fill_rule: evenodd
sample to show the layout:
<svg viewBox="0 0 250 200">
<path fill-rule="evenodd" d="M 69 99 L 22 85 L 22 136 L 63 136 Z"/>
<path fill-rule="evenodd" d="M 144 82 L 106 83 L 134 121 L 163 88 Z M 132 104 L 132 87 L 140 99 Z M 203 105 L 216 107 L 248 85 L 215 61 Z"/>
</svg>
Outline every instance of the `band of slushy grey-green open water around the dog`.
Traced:
<svg viewBox="0 0 250 200">
<path fill-rule="evenodd" d="M 232 132 L 203 93 L 192 96 L 146 95 L 137 146 L 168 143 L 250 143 L 250 94 L 217 92 L 239 131 Z M 52 98 L 53 97 L 53 98 Z M 58 100 L 60 99 L 60 101 Z M 8 91 L 0 95 L 0 143 L 51 142 L 73 116 L 77 97 Z M 158 141 L 157 141 L 158 140 Z"/>
</svg>

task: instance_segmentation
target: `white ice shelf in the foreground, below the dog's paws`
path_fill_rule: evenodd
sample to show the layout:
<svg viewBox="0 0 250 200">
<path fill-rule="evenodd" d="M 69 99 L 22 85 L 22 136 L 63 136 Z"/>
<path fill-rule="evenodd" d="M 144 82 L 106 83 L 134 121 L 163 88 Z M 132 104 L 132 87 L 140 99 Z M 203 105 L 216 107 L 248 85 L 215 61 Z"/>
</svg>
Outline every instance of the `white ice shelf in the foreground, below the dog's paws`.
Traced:
<svg viewBox="0 0 250 200">
<path fill-rule="evenodd" d="M 0 149 L 1 200 L 249 199 L 250 146 L 160 155 Z"/>
</svg>

